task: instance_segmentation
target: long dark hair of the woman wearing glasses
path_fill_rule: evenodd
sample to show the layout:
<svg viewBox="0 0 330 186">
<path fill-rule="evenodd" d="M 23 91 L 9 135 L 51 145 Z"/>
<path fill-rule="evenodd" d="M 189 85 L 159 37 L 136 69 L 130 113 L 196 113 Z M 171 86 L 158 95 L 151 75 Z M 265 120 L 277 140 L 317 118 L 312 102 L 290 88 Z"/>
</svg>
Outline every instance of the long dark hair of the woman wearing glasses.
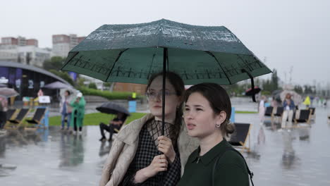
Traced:
<svg viewBox="0 0 330 186">
<path fill-rule="evenodd" d="M 162 72 L 155 73 L 149 78 L 146 92 L 148 91 L 152 81 L 154 81 L 154 79 L 159 76 L 163 76 L 163 73 Z M 182 124 L 181 116 L 183 115 L 182 107 L 183 107 L 183 94 L 185 92 L 185 84 L 183 83 L 183 80 L 181 79 L 181 77 L 178 74 L 173 73 L 171 71 L 166 71 L 166 79 L 169 80 L 169 83 L 171 83 L 171 85 L 174 87 L 174 89 L 176 91 L 176 95 L 178 97 L 181 97 L 181 99 L 179 100 L 180 104 L 176 108 L 176 119 L 174 120 L 174 125 L 173 125 L 174 128 L 172 130 L 173 132 L 170 134 L 173 147 L 176 147 L 176 144 L 177 144 L 176 141 L 178 140 L 178 135 L 179 135 L 181 124 Z"/>
</svg>

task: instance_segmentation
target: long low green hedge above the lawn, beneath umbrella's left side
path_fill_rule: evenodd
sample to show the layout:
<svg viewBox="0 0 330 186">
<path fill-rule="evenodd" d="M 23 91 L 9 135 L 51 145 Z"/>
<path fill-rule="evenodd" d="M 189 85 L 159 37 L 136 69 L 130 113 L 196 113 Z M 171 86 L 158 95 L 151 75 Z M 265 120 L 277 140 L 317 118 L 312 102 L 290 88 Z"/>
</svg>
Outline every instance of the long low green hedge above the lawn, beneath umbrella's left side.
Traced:
<svg viewBox="0 0 330 186">
<path fill-rule="evenodd" d="M 109 92 L 109 91 L 102 91 L 99 89 L 90 89 L 87 87 L 80 87 L 78 88 L 80 92 L 84 95 L 91 95 L 91 96 L 99 96 L 104 97 L 106 99 L 129 99 L 132 96 L 132 92 Z M 141 96 L 138 95 L 138 98 Z"/>
</svg>

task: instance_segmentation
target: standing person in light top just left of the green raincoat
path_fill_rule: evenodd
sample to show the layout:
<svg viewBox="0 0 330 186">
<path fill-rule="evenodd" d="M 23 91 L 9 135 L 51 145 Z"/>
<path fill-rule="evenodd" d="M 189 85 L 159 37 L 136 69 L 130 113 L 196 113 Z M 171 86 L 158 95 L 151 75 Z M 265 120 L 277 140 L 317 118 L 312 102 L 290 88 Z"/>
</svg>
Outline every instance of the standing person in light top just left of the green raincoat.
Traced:
<svg viewBox="0 0 330 186">
<path fill-rule="evenodd" d="M 70 91 L 66 90 L 64 92 L 64 97 L 62 97 L 60 102 L 60 113 L 61 113 L 61 130 L 64 130 L 65 123 L 67 125 L 66 130 L 70 129 L 70 120 L 71 120 L 71 93 Z"/>
</svg>

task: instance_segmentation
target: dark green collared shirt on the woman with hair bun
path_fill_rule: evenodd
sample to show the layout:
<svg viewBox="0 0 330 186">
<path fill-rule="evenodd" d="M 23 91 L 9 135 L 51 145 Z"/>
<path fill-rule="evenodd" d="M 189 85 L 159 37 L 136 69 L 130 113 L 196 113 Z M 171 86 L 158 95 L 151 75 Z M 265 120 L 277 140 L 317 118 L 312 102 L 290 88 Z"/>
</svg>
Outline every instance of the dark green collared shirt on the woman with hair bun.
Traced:
<svg viewBox="0 0 330 186">
<path fill-rule="evenodd" d="M 231 144 L 224 139 L 203 156 L 199 156 L 200 147 L 198 147 L 190 154 L 185 164 L 183 177 L 178 182 L 178 186 L 211 186 L 214 163 L 216 158 L 223 153 L 223 156 L 216 165 L 216 171 L 214 173 L 215 185 L 249 185 L 249 177 L 244 159 L 236 151 L 226 151 L 228 147 L 231 147 Z"/>
</svg>

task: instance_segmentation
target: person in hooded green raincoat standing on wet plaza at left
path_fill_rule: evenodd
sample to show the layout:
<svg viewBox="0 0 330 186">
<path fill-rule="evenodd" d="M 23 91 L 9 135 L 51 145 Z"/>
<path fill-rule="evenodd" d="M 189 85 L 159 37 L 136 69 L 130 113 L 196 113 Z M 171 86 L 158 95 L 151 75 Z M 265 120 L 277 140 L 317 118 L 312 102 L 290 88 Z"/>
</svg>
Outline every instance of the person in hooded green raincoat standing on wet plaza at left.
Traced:
<svg viewBox="0 0 330 186">
<path fill-rule="evenodd" d="M 73 127 L 75 134 L 77 134 L 79 129 L 79 134 L 82 134 L 82 124 L 85 116 L 85 98 L 82 97 L 82 93 L 79 92 L 77 97 L 71 101 L 72 113 L 70 125 Z"/>
</svg>

